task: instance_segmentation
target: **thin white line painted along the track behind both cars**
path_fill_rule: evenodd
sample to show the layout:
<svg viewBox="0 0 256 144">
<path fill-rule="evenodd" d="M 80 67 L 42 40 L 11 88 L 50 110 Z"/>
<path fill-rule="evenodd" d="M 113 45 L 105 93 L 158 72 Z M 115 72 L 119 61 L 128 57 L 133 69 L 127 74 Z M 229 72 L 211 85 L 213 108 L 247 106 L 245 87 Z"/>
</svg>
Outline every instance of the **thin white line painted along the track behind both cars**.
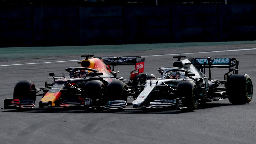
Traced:
<svg viewBox="0 0 256 144">
<path fill-rule="evenodd" d="M 193 53 L 179 53 L 179 54 L 146 55 L 146 56 L 141 56 L 141 57 L 185 55 L 185 54 L 199 54 L 199 53 L 216 53 L 216 52 L 233 52 L 233 51 L 248 51 L 248 50 L 256 50 L 256 48 L 250 48 L 250 49 L 236 49 L 236 50 L 223 50 L 223 51 L 208 51 L 208 52 L 193 52 Z M 81 60 L 68 60 L 68 61 L 54 61 L 54 62 L 41 62 L 41 63 L 11 64 L 11 65 L 0 65 L 0 67 L 3 67 L 3 66 L 17 66 L 17 65 L 30 65 L 30 64 L 60 63 L 60 62 L 71 62 L 71 61 L 81 61 Z"/>
</svg>

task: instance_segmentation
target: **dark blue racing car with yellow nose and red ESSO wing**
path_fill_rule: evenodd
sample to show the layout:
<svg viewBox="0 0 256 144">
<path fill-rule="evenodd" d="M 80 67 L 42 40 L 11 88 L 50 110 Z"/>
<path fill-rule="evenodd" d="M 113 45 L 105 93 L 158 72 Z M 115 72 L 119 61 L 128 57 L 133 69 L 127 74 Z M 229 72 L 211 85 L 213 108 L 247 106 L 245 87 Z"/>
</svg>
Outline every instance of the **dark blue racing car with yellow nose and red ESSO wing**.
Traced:
<svg viewBox="0 0 256 144">
<path fill-rule="evenodd" d="M 2 109 L 31 109 L 35 107 L 37 96 L 43 96 L 37 109 L 55 108 L 88 108 L 93 109 L 103 105 L 107 101 L 127 101 L 113 89 L 123 90 L 126 83 L 143 72 L 144 59 L 140 56 L 127 57 L 93 57 L 93 55 L 81 55 L 85 60 L 78 62 L 81 67 L 69 67 L 69 77 L 55 76 L 49 73 L 54 81 L 51 84 L 45 82 L 45 87 L 35 88 L 32 81 L 18 81 L 14 87 L 13 99 L 4 100 Z M 93 57 L 93 58 L 89 58 Z M 112 65 L 112 70 L 111 66 Z M 114 72 L 116 65 L 135 65 L 135 70 L 130 73 L 130 80 L 117 78 Z M 42 91 L 43 94 L 38 94 Z M 126 103 L 125 103 L 126 104 Z"/>
</svg>

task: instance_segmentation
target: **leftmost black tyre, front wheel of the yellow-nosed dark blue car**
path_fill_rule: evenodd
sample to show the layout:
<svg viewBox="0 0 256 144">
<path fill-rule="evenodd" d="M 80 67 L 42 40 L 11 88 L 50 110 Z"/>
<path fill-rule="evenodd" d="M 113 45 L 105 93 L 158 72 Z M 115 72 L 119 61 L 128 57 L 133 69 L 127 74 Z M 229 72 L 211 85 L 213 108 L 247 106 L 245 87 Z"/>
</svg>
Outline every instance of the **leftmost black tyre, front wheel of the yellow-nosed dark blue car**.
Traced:
<svg viewBox="0 0 256 144">
<path fill-rule="evenodd" d="M 13 99 L 36 101 L 35 84 L 32 81 L 18 81 L 14 87 Z"/>
</svg>

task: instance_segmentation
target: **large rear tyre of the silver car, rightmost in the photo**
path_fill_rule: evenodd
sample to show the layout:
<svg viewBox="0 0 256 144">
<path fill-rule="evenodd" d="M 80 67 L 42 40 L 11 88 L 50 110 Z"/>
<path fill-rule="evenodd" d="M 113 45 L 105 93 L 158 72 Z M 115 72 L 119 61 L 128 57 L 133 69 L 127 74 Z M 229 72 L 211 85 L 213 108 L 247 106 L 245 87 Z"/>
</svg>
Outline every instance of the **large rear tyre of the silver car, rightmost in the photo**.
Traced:
<svg viewBox="0 0 256 144">
<path fill-rule="evenodd" d="M 232 104 L 246 104 L 252 100 L 252 80 L 247 74 L 233 74 L 226 83 L 228 100 Z"/>
</svg>

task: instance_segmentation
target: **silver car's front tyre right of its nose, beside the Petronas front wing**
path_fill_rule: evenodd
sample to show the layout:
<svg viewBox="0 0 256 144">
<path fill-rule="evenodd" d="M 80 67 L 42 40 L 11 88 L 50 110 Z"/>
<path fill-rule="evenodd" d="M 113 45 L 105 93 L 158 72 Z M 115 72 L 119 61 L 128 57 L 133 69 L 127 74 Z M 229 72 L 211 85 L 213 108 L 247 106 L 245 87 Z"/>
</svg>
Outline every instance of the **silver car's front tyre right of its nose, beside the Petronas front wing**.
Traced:
<svg viewBox="0 0 256 144">
<path fill-rule="evenodd" d="M 179 97 L 185 97 L 185 111 L 193 111 L 198 105 L 198 90 L 193 81 L 181 81 L 177 85 L 177 94 Z"/>
</svg>

